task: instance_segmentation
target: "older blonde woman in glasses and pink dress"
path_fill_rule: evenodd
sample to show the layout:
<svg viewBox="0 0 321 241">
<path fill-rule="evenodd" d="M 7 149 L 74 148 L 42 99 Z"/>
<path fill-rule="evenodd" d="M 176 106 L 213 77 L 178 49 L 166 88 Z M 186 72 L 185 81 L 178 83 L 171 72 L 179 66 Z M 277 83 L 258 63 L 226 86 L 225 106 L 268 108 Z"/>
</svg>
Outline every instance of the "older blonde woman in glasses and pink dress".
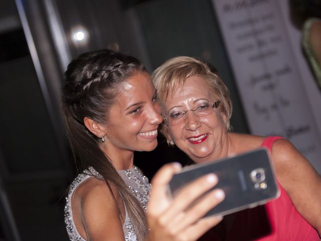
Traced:
<svg viewBox="0 0 321 241">
<path fill-rule="evenodd" d="M 165 121 L 161 131 L 167 142 L 176 145 L 196 163 L 267 147 L 281 195 L 264 205 L 270 230 L 255 239 L 319 240 L 321 177 L 283 138 L 230 132 L 232 103 L 229 91 L 211 68 L 199 59 L 175 57 L 153 72 L 152 80 Z M 252 223 L 255 218 L 261 220 L 253 215 L 256 215 L 253 209 L 230 215 L 223 227 L 224 239 L 252 239 L 253 236 L 244 232 L 253 229 L 252 226 L 246 228 L 251 219 Z"/>
</svg>

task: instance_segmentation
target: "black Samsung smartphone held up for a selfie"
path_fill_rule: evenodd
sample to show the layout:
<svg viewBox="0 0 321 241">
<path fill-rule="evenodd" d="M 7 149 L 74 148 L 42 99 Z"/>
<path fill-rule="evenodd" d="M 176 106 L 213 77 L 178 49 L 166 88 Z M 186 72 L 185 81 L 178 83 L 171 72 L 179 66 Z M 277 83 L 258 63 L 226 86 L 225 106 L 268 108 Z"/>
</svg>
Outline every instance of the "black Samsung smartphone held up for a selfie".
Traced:
<svg viewBox="0 0 321 241">
<path fill-rule="evenodd" d="M 266 148 L 184 167 L 169 183 L 171 195 L 175 197 L 182 187 L 209 173 L 218 176 L 219 181 L 214 188 L 223 189 L 225 199 L 205 216 L 227 215 L 265 204 L 280 195 L 273 164 Z"/>
</svg>

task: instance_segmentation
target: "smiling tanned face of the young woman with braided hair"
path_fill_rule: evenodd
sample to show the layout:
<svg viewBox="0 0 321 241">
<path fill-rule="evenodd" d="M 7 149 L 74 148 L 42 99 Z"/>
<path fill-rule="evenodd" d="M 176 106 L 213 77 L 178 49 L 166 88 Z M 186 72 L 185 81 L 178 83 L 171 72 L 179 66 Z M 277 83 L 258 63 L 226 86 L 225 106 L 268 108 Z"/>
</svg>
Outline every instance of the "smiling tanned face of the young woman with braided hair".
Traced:
<svg viewBox="0 0 321 241">
<path fill-rule="evenodd" d="M 103 126 L 103 150 L 114 160 L 133 151 L 152 151 L 157 146 L 157 128 L 163 119 L 156 90 L 148 73 L 138 73 L 122 85 Z M 117 157 L 117 158 L 116 158 Z"/>
</svg>

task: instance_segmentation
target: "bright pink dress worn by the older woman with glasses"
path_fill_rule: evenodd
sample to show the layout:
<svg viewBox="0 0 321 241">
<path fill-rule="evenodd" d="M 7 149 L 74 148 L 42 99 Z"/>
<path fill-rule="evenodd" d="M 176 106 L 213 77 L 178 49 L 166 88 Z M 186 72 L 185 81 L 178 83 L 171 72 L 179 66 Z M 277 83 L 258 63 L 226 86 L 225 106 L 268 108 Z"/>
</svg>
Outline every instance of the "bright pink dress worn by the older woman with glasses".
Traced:
<svg viewBox="0 0 321 241">
<path fill-rule="evenodd" d="M 261 146 L 271 151 L 273 142 L 280 138 L 267 137 Z M 295 209 L 286 191 L 279 183 L 278 186 L 278 199 L 237 212 L 232 223 L 223 219 L 199 240 L 320 240 L 317 231 Z"/>
</svg>

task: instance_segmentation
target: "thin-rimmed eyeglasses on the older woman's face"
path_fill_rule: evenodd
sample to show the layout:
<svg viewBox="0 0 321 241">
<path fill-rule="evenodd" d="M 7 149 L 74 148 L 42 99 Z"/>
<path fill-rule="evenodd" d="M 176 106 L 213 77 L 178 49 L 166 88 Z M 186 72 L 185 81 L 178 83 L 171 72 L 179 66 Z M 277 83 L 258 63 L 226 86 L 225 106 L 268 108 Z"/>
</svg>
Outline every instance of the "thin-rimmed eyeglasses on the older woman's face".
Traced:
<svg viewBox="0 0 321 241">
<path fill-rule="evenodd" d="M 201 103 L 194 109 L 188 109 L 185 112 L 173 112 L 168 117 L 163 117 L 165 123 L 169 126 L 175 126 L 181 124 L 186 119 L 186 113 L 188 111 L 193 111 L 197 116 L 206 116 L 214 112 L 214 109 L 219 107 L 221 101 L 216 101 L 214 103 Z"/>
</svg>

